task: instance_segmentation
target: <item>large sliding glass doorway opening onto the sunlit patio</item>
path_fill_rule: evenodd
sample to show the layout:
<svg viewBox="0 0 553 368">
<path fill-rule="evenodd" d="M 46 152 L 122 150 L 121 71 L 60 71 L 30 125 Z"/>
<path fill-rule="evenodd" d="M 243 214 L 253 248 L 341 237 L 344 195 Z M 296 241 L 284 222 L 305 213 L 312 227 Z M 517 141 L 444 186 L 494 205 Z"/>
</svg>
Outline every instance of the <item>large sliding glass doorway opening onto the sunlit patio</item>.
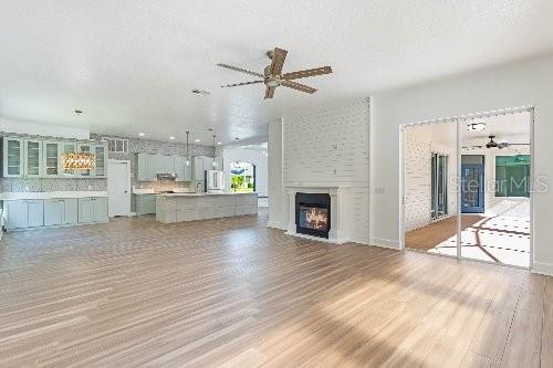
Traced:
<svg viewBox="0 0 553 368">
<path fill-rule="evenodd" d="M 532 125 L 520 108 L 403 126 L 401 246 L 530 267 Z"/>
</svg>

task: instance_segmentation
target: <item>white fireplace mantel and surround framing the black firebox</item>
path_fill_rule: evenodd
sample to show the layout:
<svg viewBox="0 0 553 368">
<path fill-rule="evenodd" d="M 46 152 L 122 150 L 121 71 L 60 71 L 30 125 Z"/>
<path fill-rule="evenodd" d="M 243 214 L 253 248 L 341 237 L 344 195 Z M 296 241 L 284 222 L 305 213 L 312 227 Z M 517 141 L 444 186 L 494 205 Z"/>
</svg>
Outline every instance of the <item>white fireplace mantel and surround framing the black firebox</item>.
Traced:
<svg viewBox="0 0 553 368">
<path fill-rule="evenodd" d="M 298 185 L 286 186 L 286 194 L 289 201 L 288 215 L 288 235 L 307 238 L 317 241 L 327 241 L 331 243 L 342 244 L 348 242 L 346 198 L 351 187 L 336 185 Z M 295 193 L 327 193 L 331 196 L 331 229 L 328 239 L 300 234 L 295 230 Z"/>
</svg>

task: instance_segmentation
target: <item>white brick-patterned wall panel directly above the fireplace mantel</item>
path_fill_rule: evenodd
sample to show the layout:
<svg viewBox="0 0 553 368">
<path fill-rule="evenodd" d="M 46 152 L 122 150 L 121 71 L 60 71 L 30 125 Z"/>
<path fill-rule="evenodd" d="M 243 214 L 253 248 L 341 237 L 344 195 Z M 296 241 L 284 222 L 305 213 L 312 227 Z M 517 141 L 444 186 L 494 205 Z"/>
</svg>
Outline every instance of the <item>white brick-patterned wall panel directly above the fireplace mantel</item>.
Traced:
<svg viewBox="0 0 553 368">
<path fill-rule="evenodd" d="M 367 101 L 285 116 L 284 186 L 368 185 Z"/>
</svg>

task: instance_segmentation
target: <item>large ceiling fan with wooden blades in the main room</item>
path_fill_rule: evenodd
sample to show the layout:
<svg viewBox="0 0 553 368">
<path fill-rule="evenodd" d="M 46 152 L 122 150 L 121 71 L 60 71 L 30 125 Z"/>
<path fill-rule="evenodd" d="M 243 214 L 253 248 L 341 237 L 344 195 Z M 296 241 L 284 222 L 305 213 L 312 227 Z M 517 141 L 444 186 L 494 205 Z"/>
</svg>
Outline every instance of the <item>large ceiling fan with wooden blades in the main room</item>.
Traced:
<svg viewBox="0 0 553 368">
<path fill-rule="evenodd" d="M 286 59 L 286 54 L 288 54 L 286 50 L 282 50 L 279 48 L 274 48 L 274 50 L 269 51 L 267 53 L 267 55 L 271 60 L 271 64 L 265 66 L 263 74 L 250 72 L 248 70 L 232 66 L 232 65 L 217 64 L 218 66 L 230 69 L 231 71 L 246 73 L 246 74 L 258 76 L 258 77 L 262 78 L 262 80 L 257 80 L 257 81 L 252 81 L 252 82 L 222 85 L 221 87 L 222 88 L 238 87 L 238 86 L 242 86 L 242 85 L 264 83 L 267 86 L 265 87 L 265 98 L 272 98 L 274 96 L 274 90 L 276 90 L 278 86 L 284 86 L 284 87 L 289 87 L 292 90 L 313 94 L 316 92 L 315 88 L 312 88 L 310 86 L 306 86 L 306 85 L 298 83 L 298 82 L 293 82 L 292 80 L 299 80 L 299 78 L 304 78 L 307 76 L 316 76 L 316 75 L 332 73 L 332 67 L 321 66 L 321 67 L 307 69 L 307 70 L 299 71 L 299 72 L 291 72 L 291 73 L 282 74 L 282 66 L 284 65 L 284 60 Z"/>
</svg>

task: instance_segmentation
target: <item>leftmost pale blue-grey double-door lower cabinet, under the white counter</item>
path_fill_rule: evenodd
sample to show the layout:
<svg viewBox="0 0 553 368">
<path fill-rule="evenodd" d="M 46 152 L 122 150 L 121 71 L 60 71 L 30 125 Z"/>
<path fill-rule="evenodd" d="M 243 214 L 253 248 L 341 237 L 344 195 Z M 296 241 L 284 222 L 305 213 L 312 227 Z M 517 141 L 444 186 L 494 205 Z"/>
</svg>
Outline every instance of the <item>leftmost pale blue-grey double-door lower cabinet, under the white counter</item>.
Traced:
<svg viewBox="0 0 553 368">
<path fill-rule="evenodd" d="M 38 228 L 44 225 L 44 202 L 42 200 L 7 201 L 8 229 Z"/>
</svg>

